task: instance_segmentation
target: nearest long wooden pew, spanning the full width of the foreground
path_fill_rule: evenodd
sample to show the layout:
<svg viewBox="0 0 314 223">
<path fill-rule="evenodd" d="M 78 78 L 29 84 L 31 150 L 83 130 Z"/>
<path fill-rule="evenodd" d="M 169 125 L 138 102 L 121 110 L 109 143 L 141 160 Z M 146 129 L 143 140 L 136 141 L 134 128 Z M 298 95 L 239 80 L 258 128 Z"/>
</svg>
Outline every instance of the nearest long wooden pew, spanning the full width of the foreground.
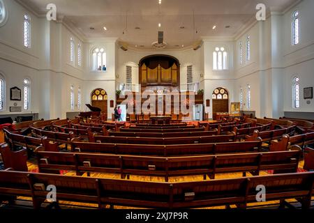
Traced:
<svg viewBox="0 0 314 223">
<path fill-rule="evenodd" d="M 0 171 L 0 195 L 4 201 L 16 197 L 31 197 L 33 208 L 39 209 L 50 191 L 57 187 L 57 201 L 96 203 L 98 208 L 134 206 L 140 208 L 201 208 L 236 205 L 247 208 L 256 203 L 256 187 L 267 188 L 267 201 L 297 199 L 302 209 L 311 206 L 314 173 L 252 176 L 202 182 L 154 183 L 80 176 L 59 176 L 17 171 Z M 269 193 L 271 192 L 271 193 Z"/>
</svg>

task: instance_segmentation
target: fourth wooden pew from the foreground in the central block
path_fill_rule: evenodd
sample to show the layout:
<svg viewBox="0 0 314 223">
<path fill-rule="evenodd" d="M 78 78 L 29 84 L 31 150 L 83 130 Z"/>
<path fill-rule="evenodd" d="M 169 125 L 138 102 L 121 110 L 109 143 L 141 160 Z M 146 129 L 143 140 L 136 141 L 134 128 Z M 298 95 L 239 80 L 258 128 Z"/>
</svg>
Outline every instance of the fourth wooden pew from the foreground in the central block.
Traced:
<svg viewBox="0 0 314 223">
<path fill-rule="evenodd" d="M 91 138 L 89 141 L 110 144 L 149 144 L 149 145 L 209 144 L 234 141 L 234 134 L 209 137 L 180 137 L 180 138 L 107 137 L 94 135 L 94 137 Z"/>
</svg>

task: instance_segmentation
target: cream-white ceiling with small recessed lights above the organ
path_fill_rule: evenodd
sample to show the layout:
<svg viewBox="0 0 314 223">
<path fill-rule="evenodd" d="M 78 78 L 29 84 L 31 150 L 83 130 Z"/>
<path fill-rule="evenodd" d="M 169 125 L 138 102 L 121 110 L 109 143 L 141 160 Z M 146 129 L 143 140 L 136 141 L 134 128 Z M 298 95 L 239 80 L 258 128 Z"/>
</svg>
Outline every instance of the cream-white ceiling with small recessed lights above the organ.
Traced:
<svg viewBox="0 0 314 223">
<path fill-rule="evenodd" d="M 70 20 L 86 38 L 119 38 L 132 47 L 137 45 L 144 49 L 151 48 L 151 43 L 157 41 L 158 31 L 164 31 L 167 49 L 193 45 L 204 36 L 232 37 L 255 17 L 257 3 L 279 9 L 294 3 L 294 0 L 162 0 L 160 5 L 158 0 L 20 1 L 38 13 L 44 12 L 48 3 L 55 3 L 58 15 Z M 215 30 L 212 29 L 214 25 L 217 26 Z M 180 29 L 181 26 L 185 29 Z"/>
</svg>

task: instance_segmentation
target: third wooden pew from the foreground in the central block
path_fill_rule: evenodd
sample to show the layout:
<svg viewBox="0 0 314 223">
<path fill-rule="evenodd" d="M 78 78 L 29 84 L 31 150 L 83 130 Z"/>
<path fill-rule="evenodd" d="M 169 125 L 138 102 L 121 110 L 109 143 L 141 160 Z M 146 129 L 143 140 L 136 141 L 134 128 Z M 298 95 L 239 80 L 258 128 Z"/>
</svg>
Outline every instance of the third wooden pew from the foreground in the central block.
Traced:
<svg viewBox="0 0 314 223">
<path fill-rule="evenodd" d="M 262 148 L 262 139 L 257 141 L 225 142 L 217 144 L 186 145 L 136 145 L 98 144 L 72 140 L 72 152 L 105 153 L 121 155 L 184 156 L 211 155 L 222 153 L 256 153 Z"/>
</svg>

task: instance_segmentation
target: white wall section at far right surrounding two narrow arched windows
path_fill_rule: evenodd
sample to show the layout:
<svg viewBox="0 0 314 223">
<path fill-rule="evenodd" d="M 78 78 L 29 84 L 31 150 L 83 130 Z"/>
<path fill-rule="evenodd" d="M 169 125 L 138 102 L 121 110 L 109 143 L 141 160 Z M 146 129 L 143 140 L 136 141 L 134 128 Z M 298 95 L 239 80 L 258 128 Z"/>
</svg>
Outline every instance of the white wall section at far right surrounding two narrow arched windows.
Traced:
<svg viewBox="0 0 314 223">
<path fill-rule="evenodd" d="M 314 1 L 304 0 L 283 15 L 283 60 L 284 60 L 284 112 L 314 112 L 314 101 L 304 100 L 306 87 L 314 87 Z M 300 43 L 292 45 L 292 13 L 300 13 Z M 292 80 L 300 78 L 300 108 L 292 106 Z M 306 102 L 310 101 L 308 105 Z"/>
</svg>

